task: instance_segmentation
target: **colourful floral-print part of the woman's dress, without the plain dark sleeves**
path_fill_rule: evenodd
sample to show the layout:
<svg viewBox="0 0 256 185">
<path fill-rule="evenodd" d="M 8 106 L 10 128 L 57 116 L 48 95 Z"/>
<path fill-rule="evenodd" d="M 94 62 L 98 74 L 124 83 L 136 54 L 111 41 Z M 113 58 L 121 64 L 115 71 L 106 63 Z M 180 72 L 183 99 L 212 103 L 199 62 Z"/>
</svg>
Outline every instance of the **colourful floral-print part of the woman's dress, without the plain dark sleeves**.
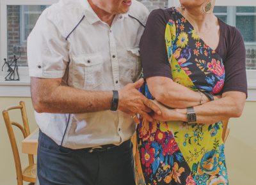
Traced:
<svg viewBox="0 0 256 185">
<path fill-rule="evenodd" d="M 193 91 L 220 93 L 225 81 L 220 55 L 172 9 L 165 42 L 173 81 Z M 147 84 L 141 91 L 153 98 Z M 222 131 L 222 122 L 148 122 L 141 117 L 135 155 L 137 184 L 228 184 Z"/>
</svg>

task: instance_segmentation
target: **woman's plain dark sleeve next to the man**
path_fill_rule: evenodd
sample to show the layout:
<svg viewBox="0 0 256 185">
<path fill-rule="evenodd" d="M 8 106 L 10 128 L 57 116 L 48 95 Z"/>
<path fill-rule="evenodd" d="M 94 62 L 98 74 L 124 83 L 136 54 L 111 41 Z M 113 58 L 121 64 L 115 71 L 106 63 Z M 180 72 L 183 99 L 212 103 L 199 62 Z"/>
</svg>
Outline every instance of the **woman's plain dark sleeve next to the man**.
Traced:
<svg viewBox="0 0 256 185">
<path fill-rule="evenodd" d="M 166 10 L 154 10 L 148 16 L 145 31 L 140 41 L 140 56 L 144 78 L 172 78 L 165 44 L 165 29 L 168 22 Z"/>
</svg>

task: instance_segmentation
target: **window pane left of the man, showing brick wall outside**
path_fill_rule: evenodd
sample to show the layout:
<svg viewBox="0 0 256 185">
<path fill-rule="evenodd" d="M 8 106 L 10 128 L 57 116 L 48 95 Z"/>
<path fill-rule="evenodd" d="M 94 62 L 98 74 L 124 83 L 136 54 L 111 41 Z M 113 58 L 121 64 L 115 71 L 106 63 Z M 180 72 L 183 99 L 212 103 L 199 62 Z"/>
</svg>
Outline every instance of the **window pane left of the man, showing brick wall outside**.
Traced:
<svg viewBox="0 0 256 185">
<path fill-rule="evenodd" d="M 27 39 L 38 17 L 46 7 L 46 5 L 7 5 L 8 61 L 11 61 L 15 55 L 19 57 L 17 66 L 28 66 Z"/>
</svg>

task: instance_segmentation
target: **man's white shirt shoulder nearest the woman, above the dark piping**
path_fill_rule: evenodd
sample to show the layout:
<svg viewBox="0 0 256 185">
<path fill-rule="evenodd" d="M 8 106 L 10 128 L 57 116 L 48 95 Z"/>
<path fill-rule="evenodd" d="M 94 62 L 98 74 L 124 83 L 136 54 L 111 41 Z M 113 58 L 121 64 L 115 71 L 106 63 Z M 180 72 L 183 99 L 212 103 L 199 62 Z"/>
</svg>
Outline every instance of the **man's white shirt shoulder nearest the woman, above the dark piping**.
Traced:
<svg viewBox="0 0 256 185">
<path fill-rule="evenodd" d="M 128 11 L 128 14 L 132 17 L 138 18 L 144 24 L 147 21 L 149 11 L 142 3 L 132 0 L 131 8 Z"/>
</svg>

